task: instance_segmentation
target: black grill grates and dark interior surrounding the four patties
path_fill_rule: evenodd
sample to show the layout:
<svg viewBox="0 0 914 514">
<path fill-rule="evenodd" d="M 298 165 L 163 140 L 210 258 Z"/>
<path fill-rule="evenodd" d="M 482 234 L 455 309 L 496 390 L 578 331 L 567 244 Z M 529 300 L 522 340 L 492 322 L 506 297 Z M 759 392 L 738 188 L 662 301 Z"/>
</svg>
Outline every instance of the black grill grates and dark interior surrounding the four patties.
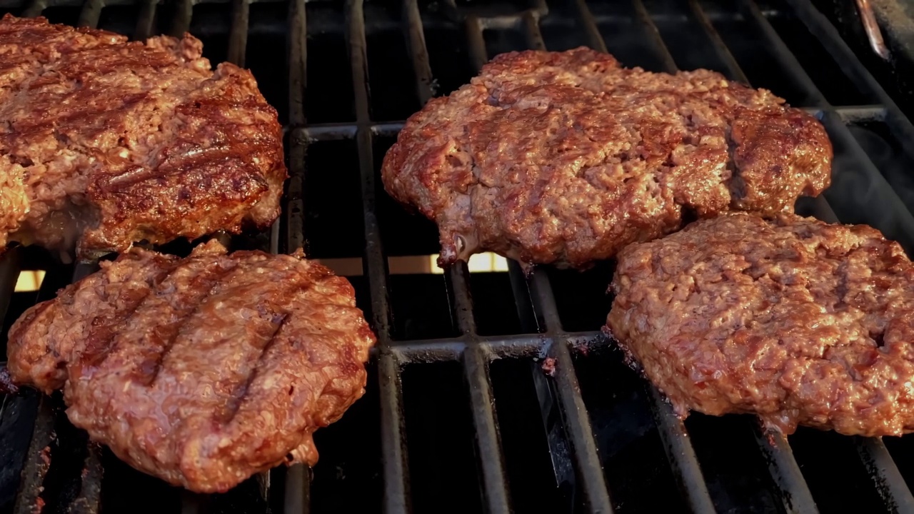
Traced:
<svg viewBox="0 0 914 514">
<path fill-rule="evenodd" d="M 249 67 L 287 127 L 292 178 L 271 233 L 231 246 L 303 246 L 345 268 L 379 340 L 366 396 L 315 434 L 314 469 L 277 468 L 223 495 L 186 493 L 122 464 L 67 422 L 59 396 L 5 397 L 2 511 L 914 510 L 911 436 L 801 429 L 788 441 L 762 434 L 749 416 L 679 423 L 600 337 L 611 263 L 530 277 L 515 262 L 506 272 L 462 264 L 431 273 L 416 256 L 438 251 L 434 225 L 396 205 L 378 177 L 402 120 L 486 59 L 588 45 L 647 70 L 718 70 L 814 112 L 834 142 L 833 186 L 798 211 L 873 225 L 910 253 L 914 127 L 896 104 L 910 99 L 890 98 L 808 0 L 0 0 L 0 8 L 133 38 L 189 30 L 213 62 Z M 0 337 L 29 305 L 96 267 L 34 248 L 7 252 Z M 40 290 L 14 292 L 27 270 L 47 270 Z"/>
</svg>

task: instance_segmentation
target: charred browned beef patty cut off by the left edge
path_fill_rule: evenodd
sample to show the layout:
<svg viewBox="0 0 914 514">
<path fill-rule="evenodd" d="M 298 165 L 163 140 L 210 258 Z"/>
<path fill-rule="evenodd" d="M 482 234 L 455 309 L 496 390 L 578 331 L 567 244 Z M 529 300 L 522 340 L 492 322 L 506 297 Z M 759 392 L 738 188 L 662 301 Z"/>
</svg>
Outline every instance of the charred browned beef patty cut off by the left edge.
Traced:
<svg viewBox="0 0 914 514">
<path fill-rule="evenodd" d="M 276 111 L 249 71 L 214 72 L 202 48 L 0 20 L 0 252 L 91 256 L 276 219 Z"/>
</svg>

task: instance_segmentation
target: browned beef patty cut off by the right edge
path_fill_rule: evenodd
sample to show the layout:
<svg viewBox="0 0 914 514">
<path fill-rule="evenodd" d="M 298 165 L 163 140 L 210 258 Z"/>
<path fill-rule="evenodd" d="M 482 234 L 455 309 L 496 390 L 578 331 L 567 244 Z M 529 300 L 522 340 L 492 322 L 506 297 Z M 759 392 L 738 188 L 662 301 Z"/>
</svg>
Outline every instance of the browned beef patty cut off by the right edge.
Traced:
<svg viewBox="0 0 914 514">
<path fill-rule="evenodd" d="M 745 213 L 619 254 L 608 325 L 685 417 L 914 431 L 914 265 L 866 226 Z"/>
</svg>

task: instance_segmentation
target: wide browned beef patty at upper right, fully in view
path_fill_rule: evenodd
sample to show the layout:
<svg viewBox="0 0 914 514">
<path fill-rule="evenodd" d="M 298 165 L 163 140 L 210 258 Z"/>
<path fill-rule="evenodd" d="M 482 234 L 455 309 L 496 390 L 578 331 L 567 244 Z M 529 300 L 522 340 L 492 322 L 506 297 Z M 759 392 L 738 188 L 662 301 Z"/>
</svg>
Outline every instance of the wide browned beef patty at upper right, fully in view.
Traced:
<svg viewBox="0 0 914 514">
<path fill-rule="evenodd" d="M 708 70 L 622 68 L 587 48 L 503 54 L 409 118 L 388 193 L 475 252 L 581 267 L 728 209 L 773 214 L 828 186 L 813 116 Z"/>
</svg>

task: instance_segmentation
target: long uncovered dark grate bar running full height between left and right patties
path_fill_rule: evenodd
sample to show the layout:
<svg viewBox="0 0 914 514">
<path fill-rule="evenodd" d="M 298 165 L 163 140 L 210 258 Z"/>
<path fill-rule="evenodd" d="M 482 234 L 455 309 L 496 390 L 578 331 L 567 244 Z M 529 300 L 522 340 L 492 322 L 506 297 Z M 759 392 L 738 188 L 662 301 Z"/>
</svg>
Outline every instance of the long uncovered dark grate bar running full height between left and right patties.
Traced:
<svg viewBox="0 0 914 514">
<path fill-rule="evenodd" d="M 403 392 L 399 361 L 390 351 L 390 305 L 387 261 L 381 246 L 375 198 L 375 170 L 372 155 L 371 113 L 368 103 L 363 0 L 346 0 L 347 47 L 356 96 L 356 146 L 361 177 L 362 209 L 365 223 L 365 259 L 373 313 L 372 326 L 378 339 L 378 384 L 380 386 L 381 459 L 383 466 L 383 510 L 409 512 L 409 466 L 403 417 Z"/>
</svg>

